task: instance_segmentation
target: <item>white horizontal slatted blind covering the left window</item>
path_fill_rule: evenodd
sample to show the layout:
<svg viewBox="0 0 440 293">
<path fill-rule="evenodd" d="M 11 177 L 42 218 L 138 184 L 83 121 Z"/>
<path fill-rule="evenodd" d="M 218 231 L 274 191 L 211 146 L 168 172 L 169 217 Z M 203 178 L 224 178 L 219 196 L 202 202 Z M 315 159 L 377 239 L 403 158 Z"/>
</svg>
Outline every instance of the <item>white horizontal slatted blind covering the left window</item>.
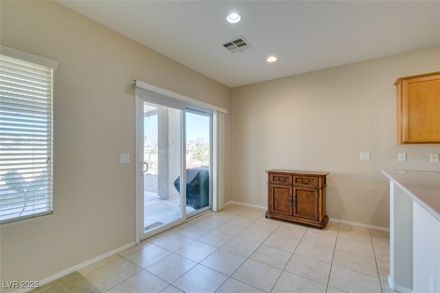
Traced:
<svg viewBox="0 0 440 293">
<path fill-rule="evenodd" d="M 0 222 L 52 213 L 53 68 L 0 55 Z"/>
</svg>

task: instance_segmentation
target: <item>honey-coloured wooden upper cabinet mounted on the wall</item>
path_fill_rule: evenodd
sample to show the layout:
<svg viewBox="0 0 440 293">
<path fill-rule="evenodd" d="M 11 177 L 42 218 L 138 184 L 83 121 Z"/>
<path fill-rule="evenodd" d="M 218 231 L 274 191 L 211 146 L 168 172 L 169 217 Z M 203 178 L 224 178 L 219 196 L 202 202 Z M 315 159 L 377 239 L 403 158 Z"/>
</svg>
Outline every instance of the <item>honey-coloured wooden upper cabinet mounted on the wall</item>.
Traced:
<svg viewBox="0 0 440 293">
<path fill-rule="evenodd" d="M 440 143 L 440 72 L 397 78 L 397 143 Z"/>
</svg>

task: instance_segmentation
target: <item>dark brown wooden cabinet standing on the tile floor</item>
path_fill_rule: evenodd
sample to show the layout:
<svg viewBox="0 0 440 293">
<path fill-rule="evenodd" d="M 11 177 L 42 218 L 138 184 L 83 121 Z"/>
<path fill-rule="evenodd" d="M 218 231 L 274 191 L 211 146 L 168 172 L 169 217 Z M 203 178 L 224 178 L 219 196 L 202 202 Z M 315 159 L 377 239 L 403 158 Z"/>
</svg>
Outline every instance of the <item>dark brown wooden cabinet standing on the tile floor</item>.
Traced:
<svg viewBox="0 0 440 293">
<path fill-rule="evenodd" d="M 327 226 L 325 172 L 267 170 L 267 213 L 318 228 Z"/>
</svg>

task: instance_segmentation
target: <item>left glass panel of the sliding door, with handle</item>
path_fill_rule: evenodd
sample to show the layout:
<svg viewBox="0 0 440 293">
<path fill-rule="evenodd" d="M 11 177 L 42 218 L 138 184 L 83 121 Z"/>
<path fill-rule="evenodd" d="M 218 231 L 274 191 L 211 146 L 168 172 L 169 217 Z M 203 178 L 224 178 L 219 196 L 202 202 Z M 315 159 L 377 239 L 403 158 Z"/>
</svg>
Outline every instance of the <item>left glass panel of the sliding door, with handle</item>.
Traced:
<svg viewBox="0 0 440 293">
<path fill-rule="evenodd" d="M 183 215 L 179 195 L 181 118 L 179 109 L 144 102 L 144 233 Z"/>
</svg>

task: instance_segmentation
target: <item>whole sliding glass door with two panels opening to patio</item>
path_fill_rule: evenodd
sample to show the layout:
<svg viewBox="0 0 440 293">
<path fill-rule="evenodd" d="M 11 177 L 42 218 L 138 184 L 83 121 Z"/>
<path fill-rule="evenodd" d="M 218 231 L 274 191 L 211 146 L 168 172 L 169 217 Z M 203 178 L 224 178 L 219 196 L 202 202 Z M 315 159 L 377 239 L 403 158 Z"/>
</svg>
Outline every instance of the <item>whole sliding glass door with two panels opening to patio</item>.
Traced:
<svg viewBox="0 0 440 293">
<path fill-rule="evenodd" d="M 137 101 L 140 239 L 212 206 L 212 113 Z"/>
</svg>

